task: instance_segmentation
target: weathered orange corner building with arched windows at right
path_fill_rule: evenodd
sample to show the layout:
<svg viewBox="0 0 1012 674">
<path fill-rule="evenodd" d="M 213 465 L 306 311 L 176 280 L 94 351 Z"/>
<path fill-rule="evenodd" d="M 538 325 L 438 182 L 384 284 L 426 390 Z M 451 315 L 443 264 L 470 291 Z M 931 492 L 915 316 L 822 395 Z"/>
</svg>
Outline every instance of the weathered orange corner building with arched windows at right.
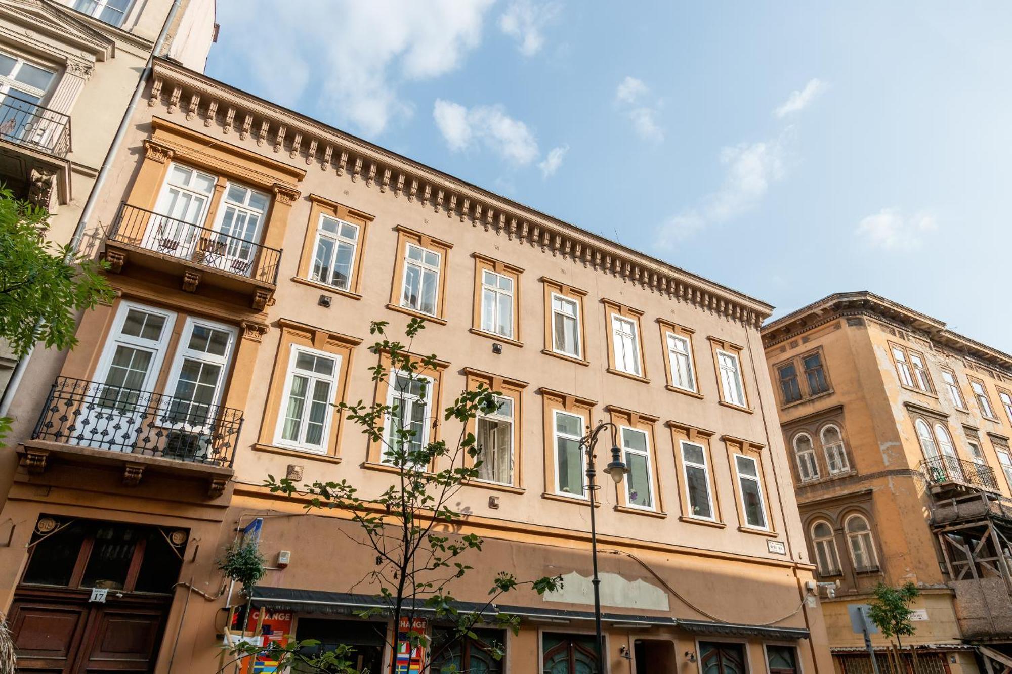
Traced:
<svg viewBox="0 0 1012 674">
<path fill-rule="evenodd" d="M 835 583 L 823 607 L 837 666 L 861 667 L 847 606 L 910 581 L 923 612 L 904 643 L 968 671 L 984 647 L 1004 667 L 1010 357 L 869 292 L 814 303 L 763 339 L 808 551 Z"/>
</svg>

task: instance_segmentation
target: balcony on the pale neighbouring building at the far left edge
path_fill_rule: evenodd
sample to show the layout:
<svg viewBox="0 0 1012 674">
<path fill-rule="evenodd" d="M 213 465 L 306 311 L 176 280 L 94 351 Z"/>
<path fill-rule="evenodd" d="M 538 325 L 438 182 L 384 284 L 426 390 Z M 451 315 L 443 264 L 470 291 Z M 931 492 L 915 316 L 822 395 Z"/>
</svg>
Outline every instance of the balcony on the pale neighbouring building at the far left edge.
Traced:
<svg viewBox="0 0 1012 674">
<path fill-rule="evenodd" d="M 70 117 L 10 93 L 0 99 L 0 181 L 15 196 L 52 207 L 71 198 Z"/>
</svg>

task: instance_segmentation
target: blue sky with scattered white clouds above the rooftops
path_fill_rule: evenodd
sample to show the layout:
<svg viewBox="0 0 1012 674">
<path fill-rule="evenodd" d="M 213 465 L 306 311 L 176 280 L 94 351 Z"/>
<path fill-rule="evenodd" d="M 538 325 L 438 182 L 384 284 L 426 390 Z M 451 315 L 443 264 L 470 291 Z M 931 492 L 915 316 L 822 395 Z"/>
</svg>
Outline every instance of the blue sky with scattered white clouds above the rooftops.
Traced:
<svg viewBox="0 0 1012 674">
<path fill-rule="evenodd" d="M 1012 352 L 1012 3 L 218 11 L 212 77 L 776 315 L 868 289 Z"/>
</svg>

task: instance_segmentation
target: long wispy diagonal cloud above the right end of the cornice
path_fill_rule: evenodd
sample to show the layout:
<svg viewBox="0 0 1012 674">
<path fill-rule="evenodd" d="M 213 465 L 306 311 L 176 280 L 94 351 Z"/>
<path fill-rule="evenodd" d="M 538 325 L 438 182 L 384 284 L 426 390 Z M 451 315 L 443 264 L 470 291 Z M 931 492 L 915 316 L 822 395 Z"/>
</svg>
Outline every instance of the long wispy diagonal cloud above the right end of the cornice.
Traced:
<svg viewBox="0 0 1012 674">
<path fill-rule="evenodd" d="M 706 228 L 748 213 L 758 205 L 770 185 L 784 175 L 786 145 L 790 130 L 770 141 L 727 147 L 721 150 L 724 182 L 703 197 L 700 204 L 669 218 L 658 228 L 658 243 L 670 248 Z"/>
</svg>

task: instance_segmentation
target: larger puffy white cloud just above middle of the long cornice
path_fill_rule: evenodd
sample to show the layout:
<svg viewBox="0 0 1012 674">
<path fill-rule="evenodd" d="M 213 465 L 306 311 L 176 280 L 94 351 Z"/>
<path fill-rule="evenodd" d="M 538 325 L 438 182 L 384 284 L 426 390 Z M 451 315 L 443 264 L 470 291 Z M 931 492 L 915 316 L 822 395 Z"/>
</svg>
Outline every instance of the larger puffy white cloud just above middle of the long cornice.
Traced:
<svg viewBox="0 0 1012 674">
<path fill-rule="evenodd" d="M 476 105 L 469 109 L 440 98 L 432 108 L 432 117 L 453 152 L 481 143 L 518 166 L 526 166 L 538 157 L 534 135 L 525 123 L 506 114 L 502 105 Z"/>
</svg>

